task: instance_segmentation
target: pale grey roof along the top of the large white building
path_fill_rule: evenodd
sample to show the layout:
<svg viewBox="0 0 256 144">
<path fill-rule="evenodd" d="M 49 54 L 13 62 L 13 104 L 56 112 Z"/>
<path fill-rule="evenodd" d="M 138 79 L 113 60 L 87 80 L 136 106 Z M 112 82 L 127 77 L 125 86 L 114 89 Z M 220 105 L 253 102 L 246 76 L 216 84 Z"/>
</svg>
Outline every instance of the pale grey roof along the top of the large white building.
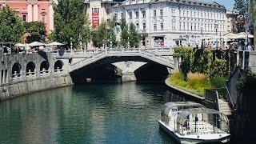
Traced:
<svg viewBox="0 0 256 144">
<path fill-rule="evenodd" d="M 114 7 L 138 5 L 138 4 L 146 4 L 146 3 L 163 3 L 163 2 L 192 5 L 192 6 L 208 6 L 208 7 L 214 7 L 214 8 L 226 10 L 225 6 L 222 6 L 217 2 L 213 2 L 211 0 L 145 0 L 145 1 L 126 0 L 126 1 L 120 2 L 118 5 L 115 5 Z"/>
</svg>

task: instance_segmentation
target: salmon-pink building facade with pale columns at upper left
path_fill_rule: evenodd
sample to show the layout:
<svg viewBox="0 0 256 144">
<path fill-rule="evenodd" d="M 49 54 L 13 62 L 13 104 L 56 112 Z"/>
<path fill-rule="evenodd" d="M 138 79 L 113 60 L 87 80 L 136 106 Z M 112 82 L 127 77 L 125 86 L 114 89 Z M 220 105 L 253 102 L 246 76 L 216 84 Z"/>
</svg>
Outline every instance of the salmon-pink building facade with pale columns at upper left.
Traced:
<svg viewBox="0 0 256 144">
<path fill-rule="evenodd" d="M 0 8 L 6 5 L 13 8 L 23 21 L 41 21 L 48 33 L 54 30 L 52 0 L 0 0 Z"/>
</svg>

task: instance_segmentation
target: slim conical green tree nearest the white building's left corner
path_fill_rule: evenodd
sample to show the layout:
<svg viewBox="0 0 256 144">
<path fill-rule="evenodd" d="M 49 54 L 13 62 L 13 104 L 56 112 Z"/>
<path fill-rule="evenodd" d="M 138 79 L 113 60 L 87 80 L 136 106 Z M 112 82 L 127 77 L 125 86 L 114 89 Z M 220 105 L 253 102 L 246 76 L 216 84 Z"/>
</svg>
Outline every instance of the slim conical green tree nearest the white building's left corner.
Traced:
<svg viewBox="0 0 256 144">
<path fill-rule="evenodd" d="M 133 22 L 131 22 L 129 26 L 129 42 L 131 47 L 138 47 L 140 42 L 140 36 Z"/>
</svg>

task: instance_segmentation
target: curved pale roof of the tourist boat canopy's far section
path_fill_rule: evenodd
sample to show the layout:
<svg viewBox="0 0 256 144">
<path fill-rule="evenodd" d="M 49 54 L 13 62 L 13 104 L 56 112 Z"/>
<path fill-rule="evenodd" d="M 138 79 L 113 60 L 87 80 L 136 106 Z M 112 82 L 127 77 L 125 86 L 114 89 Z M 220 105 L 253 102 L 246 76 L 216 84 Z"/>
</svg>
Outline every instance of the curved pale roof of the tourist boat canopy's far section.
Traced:
<svg viewBox="0 0 256 144">
<path fill-rule="evenodd" d="M 178 110 L 182 110 L 182 107 L 196 108 L 196 107 L 204 107 L 204 106 L 197 102 L 167 102 L 166 104 L 163 105 L 162 112 L 163 114 L 170 116 L 170 112 L 174 108 L 178 108 Z"/>
</svg>

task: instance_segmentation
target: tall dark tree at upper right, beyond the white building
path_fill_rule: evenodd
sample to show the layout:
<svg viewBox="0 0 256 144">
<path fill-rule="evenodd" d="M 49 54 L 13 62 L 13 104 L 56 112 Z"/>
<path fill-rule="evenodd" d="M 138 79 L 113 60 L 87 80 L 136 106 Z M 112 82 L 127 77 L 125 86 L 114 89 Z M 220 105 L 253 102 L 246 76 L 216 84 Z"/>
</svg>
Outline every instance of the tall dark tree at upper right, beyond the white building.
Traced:
<svg viewBox="0 0 256 144">
<path fill-rule="evenodd" d="M 234 0 L 234 10 L 238 11 L 238 14 L 234 14 L 236 20 L 236 27 L 238 32 L 244 31 L 246 24 L 246 18 L 248 18 L 248 1 L 247 0 Z"/>
</svg>

